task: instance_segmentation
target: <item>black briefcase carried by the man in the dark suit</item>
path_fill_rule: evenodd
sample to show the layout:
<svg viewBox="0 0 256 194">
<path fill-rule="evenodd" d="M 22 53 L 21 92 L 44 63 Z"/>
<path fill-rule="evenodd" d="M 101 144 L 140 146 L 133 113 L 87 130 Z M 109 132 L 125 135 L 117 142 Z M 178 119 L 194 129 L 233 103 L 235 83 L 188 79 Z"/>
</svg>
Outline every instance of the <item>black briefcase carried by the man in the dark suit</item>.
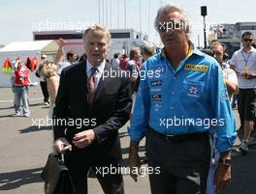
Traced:
<svg viewBox="0 0 256 194">
<path fill-rule="evenodd" d="M 41 177 L 45 180 L 46 194 L 76 194 L 69 170 L 64 165 L 63 155 L 49 153 Z"/>
</svg>

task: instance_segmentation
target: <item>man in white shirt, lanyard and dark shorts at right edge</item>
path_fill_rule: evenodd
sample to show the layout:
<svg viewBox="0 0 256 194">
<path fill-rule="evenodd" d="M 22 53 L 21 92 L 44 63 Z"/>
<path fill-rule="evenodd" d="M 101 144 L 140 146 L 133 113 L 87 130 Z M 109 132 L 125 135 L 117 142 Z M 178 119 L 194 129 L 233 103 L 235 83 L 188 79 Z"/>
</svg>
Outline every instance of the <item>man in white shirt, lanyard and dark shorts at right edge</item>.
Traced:
<svg viewBox="0 0 256 194">
<path fill-rule="evenodd" d="M 240 144 L 243 153 L 248 152 L 248 141 L 254 125 L 256 102 L 256 49 L 251 46 L 253 34 L 244 32 L 241 35 L 242 48 L 236 51 L 231 59 L 239 79 L 239 113 L 243 124 L 244 137 Z"/>
</svg>

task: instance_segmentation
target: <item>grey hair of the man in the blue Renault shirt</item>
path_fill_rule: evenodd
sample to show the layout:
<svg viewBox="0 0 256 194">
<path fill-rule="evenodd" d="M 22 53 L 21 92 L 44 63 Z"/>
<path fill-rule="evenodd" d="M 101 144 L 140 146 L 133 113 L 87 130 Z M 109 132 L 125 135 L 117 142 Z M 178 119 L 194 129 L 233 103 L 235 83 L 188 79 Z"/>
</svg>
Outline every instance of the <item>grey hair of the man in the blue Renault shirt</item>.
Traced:
<svg viewBox="0 0 256 194">
<path fill-rule="evenodd" d="M 182 20 L 181 21 L 182 21 L 182 23 L 185 24 L 185 32 L 186 32 L 186 34 L 190 33 L 190 23 L 189 23 L 189 20 L 187 18 L 187 14 L 185 14 L 185 12 L 181 8 L 178 8 L 177 6 L 173 6 L 171 4 L 167 4 L 167 5 L 159 8 L 159 10 L 157 11 L 157 15 L 156 15 L 155 20 L 154 20 L 155 30 L 157 32 L 159 32 L 158 26 L 159 26 L 159 23 L 160 23 L 160 17 L 163 14 L 175 13 L 175 12 L 181 14 L 181 16 L 182 16 Z"/>
</svg>

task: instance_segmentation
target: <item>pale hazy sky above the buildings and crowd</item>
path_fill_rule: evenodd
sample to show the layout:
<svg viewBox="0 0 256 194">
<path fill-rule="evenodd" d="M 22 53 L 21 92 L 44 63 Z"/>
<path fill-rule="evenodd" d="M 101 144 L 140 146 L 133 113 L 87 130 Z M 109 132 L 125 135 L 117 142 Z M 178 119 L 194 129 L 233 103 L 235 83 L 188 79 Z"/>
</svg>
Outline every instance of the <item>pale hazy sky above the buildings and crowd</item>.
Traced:
<svg viewBox="0 0 256 194">
<path fill-rule="evenodd" d="M 106 15 L 108 15 L 109 28 L 116 28 L 117 23 L 119 23 L 119 28 L 124 28 L 124 1 L 100 0 L 101 22 L 104 21 L 107 25 Z M 31 41 L 33 30 L 39 29 L 39 27 L 42 28 L 41 30 L 55 29 L 53 24 L 58 28 L 56 24 L 58 22 L 65 24 L 62 28 L 74 28 L 98 22 L 98 2 L 99 0 L 0 0 L 0 44 Z M 105 5 L 104 20 L 103 2 Z M 153 28 L 154 17 L 157 10 L 166 3 L 179 5 L 187 12 L 193 23 L 203 22 L 203 17 L 200 14 L 201 6 L 208 6 L 208 22 L 256 21 L 255 0 L 197 0 L 196 2 L 192 0 L 141 0 L 141 3 L 142 32 L 148 34 L 149 39 L 153 42 L 159 42 Z M 106 5 L 108 5 L 108 14 L 106 14 Z M 119 10 L 119 14 L 117 10 Z M 49 25 L 50 23 L 52 26 Z M 140 0 L 126 0 L 126 26 L 140 30 Z M 192 41 L 197 43 L 198 35 L 203 44 L 203 29 L 194 30 L 191 35 Z"/>
</svg>

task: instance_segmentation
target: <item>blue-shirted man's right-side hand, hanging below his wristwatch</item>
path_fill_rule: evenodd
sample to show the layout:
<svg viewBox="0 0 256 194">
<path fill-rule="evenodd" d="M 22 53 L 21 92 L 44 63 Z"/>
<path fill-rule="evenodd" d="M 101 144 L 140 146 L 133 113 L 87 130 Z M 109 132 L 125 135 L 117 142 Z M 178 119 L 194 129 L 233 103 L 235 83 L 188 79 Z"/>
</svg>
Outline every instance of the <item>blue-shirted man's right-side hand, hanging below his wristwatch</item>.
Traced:
<svg viewBox="0 0 256 194">
<path fill-rule="evenodd" d="M 219 163 L 214 175 L 217 193 L 221 192 L 231 181 L 231 166 Z"/>
</svg>

